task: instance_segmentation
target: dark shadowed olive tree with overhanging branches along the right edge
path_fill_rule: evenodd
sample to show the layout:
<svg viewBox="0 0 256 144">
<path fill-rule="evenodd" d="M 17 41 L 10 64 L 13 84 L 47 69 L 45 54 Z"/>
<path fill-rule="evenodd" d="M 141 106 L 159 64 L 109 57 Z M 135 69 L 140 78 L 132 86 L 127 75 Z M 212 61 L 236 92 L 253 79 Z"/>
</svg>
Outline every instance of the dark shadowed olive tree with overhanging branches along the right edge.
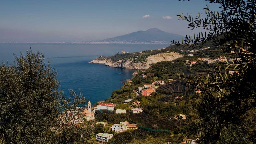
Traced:
<svg viewBox="0 0 256 144">
<path fill-rule="evenodd" d="M 185 76 L 189 86 L 202 90 L 195 107 L 199 113 L 195 122 L 198 142 L 255 143 L 255 124 L 248 126 L 244 116 L 256 106 L 256 1 L 205 1 L 219 4 L 221 12 L 211 11 L 208 5 L 204 8 L 203 17 L 200 14 L 195 18 L 183 14 L 178 17 L 189 22 L 192 29 L 203 28 L 208 32 L 186 36 L 181 42 L 173 43 L 196 49 L 207 41 L 213 41 L 226 53 L 235 51 L 239 58 L 230 62 L 226 59 L 215 72 L 205 77 Z M 229 74 L 229 70 L 236 72 Z M 247 134 L 247 130 L 251 133 Z M 229 134 L 234 138 L 228 138 Z"/>
</svg>

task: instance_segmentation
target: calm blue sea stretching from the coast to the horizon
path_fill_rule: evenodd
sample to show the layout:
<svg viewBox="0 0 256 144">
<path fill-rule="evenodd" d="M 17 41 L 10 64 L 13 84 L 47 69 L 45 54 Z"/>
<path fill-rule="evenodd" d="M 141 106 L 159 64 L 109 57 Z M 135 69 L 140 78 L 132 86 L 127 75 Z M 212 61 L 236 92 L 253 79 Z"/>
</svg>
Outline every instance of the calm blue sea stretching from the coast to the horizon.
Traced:
<svg viewBox="0 0 256 144">
<path fill-rule="evenodd" d="M 152 44 L 0 44 L 0 60 L 13 63 L 14 54 L 25 55 L 30 48 L 42 52 L 45 63 L 57 71 L 59 89 L 68 97 L 69 90 L 82 93 L 92 104 L 110 98 L 135 70 L 112 68 L 104 64 L 88 63 L 99 56 L 111 56 L 121 51 L 138 52 L 168 47 Z M 119 75 L 122 73 L 122 75 Z"/>
</svg>

